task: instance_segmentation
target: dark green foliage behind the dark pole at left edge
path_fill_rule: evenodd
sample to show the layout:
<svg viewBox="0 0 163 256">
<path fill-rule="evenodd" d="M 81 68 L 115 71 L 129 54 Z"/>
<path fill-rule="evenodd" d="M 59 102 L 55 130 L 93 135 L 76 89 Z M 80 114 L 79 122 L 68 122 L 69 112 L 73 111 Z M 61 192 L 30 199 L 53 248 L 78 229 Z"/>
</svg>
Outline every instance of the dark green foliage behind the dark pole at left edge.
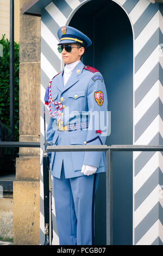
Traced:
<svg viewBox="0 0 163 256">
<path fill-rule="evenodd" d="M 10 127 L 10 41 L 5 39 L 5 34 L 0 40 L 3 46 L 3 56 L 0 57 L 0 120 L 4 125 Z M 0 55 L 1 56 L 1 55 Z M 14 86 L 15 86 L 15 135 L 18 141 L 19 124 L 19 44 L 14 42 Z"/>
</svg>

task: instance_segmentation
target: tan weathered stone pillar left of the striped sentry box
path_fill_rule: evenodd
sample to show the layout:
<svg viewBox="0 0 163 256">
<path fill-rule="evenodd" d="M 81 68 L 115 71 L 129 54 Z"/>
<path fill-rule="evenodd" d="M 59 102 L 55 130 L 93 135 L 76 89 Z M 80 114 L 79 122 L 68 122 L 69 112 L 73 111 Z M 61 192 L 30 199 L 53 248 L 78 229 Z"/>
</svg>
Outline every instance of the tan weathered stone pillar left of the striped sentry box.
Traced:
<svg viewBox="0 0 163 256">
<path fill-rule="evenodd" d="M 20 9 L 29 0 L 20 0 Z M 40 141 L 41 18 L 20 14 L 20 141 Z M 14 245 L 40 243 L 40 149 L 20 148 L 16 161 Z"/>
</svg>

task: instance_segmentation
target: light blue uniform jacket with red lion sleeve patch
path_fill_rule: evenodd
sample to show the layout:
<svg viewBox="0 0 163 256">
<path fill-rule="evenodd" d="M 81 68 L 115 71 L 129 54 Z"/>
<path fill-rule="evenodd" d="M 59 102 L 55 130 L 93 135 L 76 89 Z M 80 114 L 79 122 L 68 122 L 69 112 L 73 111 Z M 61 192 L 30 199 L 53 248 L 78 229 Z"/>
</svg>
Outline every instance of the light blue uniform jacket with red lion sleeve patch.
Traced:
<svg viewBox="0 0 163 256">
<path fill-rule="evenodd" d="M 101 73 L 80 62 L 64 86 L 63 72 L 64 69 L 51 83 L 51 96 L 54 102 L 59 102 L 60 98 L 63 98 L 62 105 L 65 107 L 62 108 L 62 125 L 89 121 L 89 129 L 58 131 L 56 114 L 49 119 L 47 142 L 52 145 L 85 145 L 85 141 L 87 145 L 101 145 L 101 142 L 105 144 L 106 136 L 101 134 L 103 131 L 100 124 L 103 120 L 100 114 L 101 112 L 106 114 L 108 99 Z M 55 105 L 49 104 L 53 113 Z M 95 115 L 96 118 L 93 118 Z M 97 130 L 100 131 L 96 133 Z M 97 136 L 101 141 L 95 139 Z M 51 172 L 56 178 L 60 178 L 62 162 L 64 162 L 65 178 L 83 176 L 84 174 L 81 173 L 83 164 L 96 166 L 96 173 L 105 172 L 105 153 L 102 151 L 52 152 Z"/>
</svg>

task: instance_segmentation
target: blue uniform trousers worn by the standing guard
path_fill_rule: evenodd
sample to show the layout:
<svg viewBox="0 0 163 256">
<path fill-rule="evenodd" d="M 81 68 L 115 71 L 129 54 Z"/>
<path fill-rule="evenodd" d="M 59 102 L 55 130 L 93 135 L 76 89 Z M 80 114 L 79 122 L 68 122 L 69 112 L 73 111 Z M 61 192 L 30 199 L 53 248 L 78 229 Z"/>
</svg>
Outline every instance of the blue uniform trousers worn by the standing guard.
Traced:
<svg viewBox="0 0 163 256">
<path fill-rule="evenodd" d="M 60 245 L 93 245 L 95 193 L 99 174 L 60 179 L 53 176 L 55 214 Z"/>
</svg>

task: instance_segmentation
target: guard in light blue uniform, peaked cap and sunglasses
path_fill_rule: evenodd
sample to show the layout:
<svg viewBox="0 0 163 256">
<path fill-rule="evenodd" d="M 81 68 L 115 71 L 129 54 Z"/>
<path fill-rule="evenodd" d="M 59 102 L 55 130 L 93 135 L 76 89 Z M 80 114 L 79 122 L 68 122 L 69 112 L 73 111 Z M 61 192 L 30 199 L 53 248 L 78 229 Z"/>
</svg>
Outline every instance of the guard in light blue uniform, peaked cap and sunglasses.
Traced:
<svg viewBox="0 0 163 256">
<path fill-rule="evenodd" d="M 101 145 L 106 140 L 107 95 L 103 77 L 80 58 L 91 40 L 75 28 L 58 30 L 65 68 L 46 90 L 52 145 Z M 105 131 L 104 131 L 105 128 Z M 55 212 L 60 245 L 93 245 L 95 191 L 105 172 L 102 151 L 51 154 Z"/>
</svg>

